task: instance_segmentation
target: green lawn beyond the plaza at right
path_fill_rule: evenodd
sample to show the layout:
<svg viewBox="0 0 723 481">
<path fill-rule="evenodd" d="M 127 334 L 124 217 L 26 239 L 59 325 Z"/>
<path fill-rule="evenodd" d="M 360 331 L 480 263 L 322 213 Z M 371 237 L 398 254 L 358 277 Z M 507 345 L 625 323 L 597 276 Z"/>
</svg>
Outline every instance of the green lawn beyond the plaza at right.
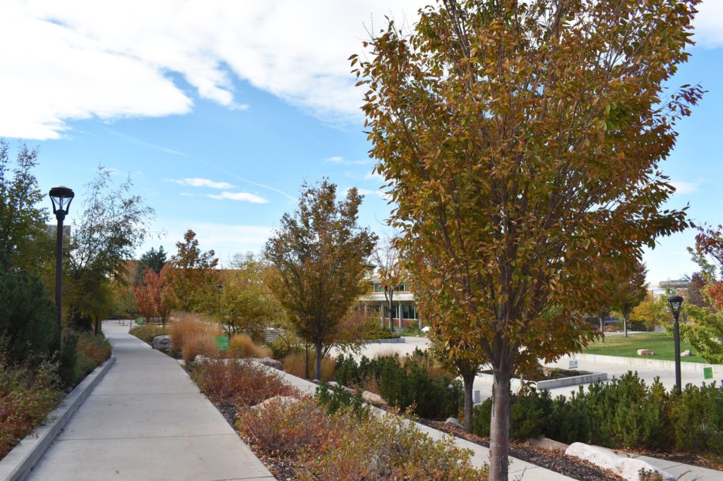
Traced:
<svg viewBox="0 0 723 481">
<path fill-rule="evenodd" d="M 654 356 L 638 356 L 638 349 L 650 349 Z M 698 352 L 687 342 L 680 339 L 680 352 L 690 350 L 693 354 Z M 599 354 L 605 356 L 623 356 L 625 358 L 646 358 L 675 360 L 675 347 L 673 338 L 665 332 L 646 332 L 643 334 L 628 334 L 606 336 L 605 342 L 594 342 L 589 345 L 583 354 Z M 705 363 L 703 358 L 693 355 L 690 358 L 680 358 L 685 363 Z"/>
</svg>

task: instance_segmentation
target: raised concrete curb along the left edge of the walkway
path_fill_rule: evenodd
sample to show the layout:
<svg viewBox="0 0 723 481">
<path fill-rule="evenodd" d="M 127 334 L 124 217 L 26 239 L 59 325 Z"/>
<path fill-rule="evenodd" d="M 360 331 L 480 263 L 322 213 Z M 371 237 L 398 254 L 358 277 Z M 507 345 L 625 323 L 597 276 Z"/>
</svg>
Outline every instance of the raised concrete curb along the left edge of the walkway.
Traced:
<svg viewBox="0 0 723 481">
<path fill-rule="evenodd" d="M 63 430 L 74 412 L 80 407 L 83 401 L 90 395 L 93 388 L 103 379 L 108 370 L 116 362 L 116 358 L 111 357 L 105 363 L 99 365 L 88 374 L 83 381 L 70 391 L 59 407 L 48 415 L 48 419 L 53 420 L 50 424 L 42 425 L 35 429 L 33 433 L 25 436 L 25 439 L 15 446 L 7 456 L 0 461 L 0 480 L 19 481 L 25 479 L 33 469 L 35 463 L 38 462 L 40 456 L 43 456 L 46 449 L 53 443 L 56 436 Z"/>
</svg>

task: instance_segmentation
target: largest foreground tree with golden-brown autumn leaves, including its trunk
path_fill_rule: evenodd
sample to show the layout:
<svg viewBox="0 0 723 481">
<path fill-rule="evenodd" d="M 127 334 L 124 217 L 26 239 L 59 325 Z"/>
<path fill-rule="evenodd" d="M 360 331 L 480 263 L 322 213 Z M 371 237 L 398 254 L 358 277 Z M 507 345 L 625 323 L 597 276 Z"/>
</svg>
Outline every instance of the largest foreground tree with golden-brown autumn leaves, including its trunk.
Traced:
<svg viewBox="0 0 723 481">
<path fill-rule="evenodd" d="M 484 339 L 492 481 L 508 478 L 515 368 L 581 349 L 599 269 L 632 274 L 686 226 L 662 209 L 659 162 L 702 95 L 664 91 L 697 3 L 443 0 L 351 57 L 415 299 Z"/>
</svg>

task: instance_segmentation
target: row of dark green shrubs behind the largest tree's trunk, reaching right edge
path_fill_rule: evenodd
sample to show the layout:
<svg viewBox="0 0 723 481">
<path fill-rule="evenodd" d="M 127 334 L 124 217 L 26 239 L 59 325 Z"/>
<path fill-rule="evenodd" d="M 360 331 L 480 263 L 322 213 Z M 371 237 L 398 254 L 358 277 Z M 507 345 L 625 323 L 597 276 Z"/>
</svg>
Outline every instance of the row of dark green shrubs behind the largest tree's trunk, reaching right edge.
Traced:
<svg viewBox="0 0 723 481">
<path fill-rule="evenodd" d="M 550 399 L 547 392 L 512 395 L 510 438 L 723 454 L 723 391 L 715 384 L 689 384 L 678 396 L 659 379 L 647 385 L 628 372 L 581 387 L 570 399 Z M 474 407 L 472 431 L 479 436 L 489 436 L 491 408 L 492 399 Z"/>
</svg>

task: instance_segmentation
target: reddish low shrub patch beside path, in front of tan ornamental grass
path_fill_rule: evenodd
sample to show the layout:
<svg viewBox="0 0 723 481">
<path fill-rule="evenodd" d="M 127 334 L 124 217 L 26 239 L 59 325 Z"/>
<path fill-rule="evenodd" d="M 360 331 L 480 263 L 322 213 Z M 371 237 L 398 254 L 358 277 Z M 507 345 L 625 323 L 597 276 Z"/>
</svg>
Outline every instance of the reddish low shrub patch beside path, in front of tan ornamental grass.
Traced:
<svg viewBox="0 0 723 481">
<path fill-rule="evenodd" d="M 274 396 L 301 397 L 268 368 L 247 360 L 214 360 L 193 368 L 191 377 L 212 402 L 253 406 Z"/>
</svg>

